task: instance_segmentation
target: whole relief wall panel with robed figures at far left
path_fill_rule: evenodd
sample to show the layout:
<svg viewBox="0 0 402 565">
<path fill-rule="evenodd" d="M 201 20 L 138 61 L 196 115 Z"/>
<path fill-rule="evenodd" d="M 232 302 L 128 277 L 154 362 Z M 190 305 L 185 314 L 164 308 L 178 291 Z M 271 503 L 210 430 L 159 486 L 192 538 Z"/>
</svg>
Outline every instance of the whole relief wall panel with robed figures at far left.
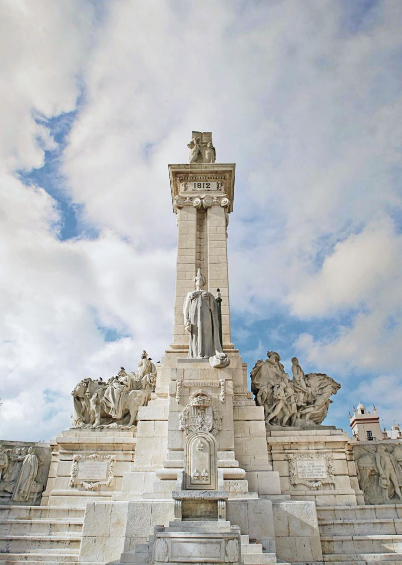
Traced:
<svg viewBox="0 0 402 565">
<path fill-rule="evenodd" d="M 50 446 L 0 444 L 0 504 L 38 504 L 49 466 Z"/>
</svg>

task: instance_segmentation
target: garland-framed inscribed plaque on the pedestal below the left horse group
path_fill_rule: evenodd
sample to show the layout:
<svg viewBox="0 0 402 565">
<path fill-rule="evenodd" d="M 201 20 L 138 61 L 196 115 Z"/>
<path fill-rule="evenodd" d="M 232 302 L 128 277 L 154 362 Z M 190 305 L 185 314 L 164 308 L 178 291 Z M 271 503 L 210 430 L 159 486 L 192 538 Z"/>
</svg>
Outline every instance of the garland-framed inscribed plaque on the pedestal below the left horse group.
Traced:
<svg viewBox="0 0 402 565">
<path fill-rule="evenodd" d="M 69 486 L 82 486 L 85 490 L 100 490 L 102 485 L 114 484 L 114 455 L 74 455 Z M 95 479 L 95 480 L 94 480 Z"/>
</svg>

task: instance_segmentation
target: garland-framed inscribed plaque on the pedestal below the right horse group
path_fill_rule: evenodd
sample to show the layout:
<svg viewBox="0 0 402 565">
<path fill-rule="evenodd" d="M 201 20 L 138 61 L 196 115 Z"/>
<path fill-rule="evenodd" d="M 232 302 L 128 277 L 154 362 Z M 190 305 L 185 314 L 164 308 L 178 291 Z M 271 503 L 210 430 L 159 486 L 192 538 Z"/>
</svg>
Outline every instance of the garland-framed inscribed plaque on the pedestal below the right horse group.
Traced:
<svg viewBox="0 0 402 565">
<path fill-rule="evenodd" d="M 335 488 L 332 457 L 318 453 L 290 453 L 290 485 L 297 488 L 304 485 L 311 490 L 319 490 L 323 485 Z"/>
</svg>

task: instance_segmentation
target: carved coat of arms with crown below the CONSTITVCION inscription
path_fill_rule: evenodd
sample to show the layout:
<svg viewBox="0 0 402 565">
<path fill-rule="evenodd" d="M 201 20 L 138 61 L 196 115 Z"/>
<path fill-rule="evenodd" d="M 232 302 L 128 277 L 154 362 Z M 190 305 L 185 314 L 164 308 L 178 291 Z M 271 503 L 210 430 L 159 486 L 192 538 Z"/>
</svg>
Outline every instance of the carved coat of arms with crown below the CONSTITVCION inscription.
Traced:
<svg viewBox="0 0 402 565">
<path fill-rule="evenodd" d="M 180 414 L 179 429 L 189 436 L 193 432 L 209 432 L 216 436 L 222 426 L 222 416 L 210 394 L 197 390 Z"/>
</svg>

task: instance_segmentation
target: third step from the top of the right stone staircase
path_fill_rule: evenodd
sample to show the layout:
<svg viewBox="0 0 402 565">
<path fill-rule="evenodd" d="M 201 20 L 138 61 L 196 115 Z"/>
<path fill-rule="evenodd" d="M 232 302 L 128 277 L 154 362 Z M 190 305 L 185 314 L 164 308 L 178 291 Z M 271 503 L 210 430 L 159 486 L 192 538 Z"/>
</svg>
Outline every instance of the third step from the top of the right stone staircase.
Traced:
<svg viewBox="0 0 402 565">
<path fill-rule="evenodd" d="M 402 536 L 321 536 L 325 554 L 402 553 Z"/>
</svg>

